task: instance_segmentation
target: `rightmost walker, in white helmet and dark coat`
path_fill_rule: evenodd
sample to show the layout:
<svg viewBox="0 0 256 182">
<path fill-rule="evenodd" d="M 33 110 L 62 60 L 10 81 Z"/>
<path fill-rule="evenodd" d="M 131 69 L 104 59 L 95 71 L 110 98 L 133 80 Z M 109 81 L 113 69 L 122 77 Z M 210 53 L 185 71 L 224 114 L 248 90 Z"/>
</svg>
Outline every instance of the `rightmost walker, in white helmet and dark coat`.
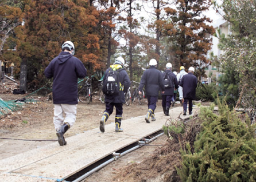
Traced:
<svg viewBox="0 0 256 182">
<path fill-rule="evenodd" d="M 196 87 L 197 87 L 197 77 L 193 75 L 195 68 L 192 66 L 188 69 L 188 74 L 181 78 L 180 85 L 183 87 L 183 115 L 187 115 L 187 106 L 189 115 L 192 114 L 192 100 L 196 99 Z"/>
</svg>

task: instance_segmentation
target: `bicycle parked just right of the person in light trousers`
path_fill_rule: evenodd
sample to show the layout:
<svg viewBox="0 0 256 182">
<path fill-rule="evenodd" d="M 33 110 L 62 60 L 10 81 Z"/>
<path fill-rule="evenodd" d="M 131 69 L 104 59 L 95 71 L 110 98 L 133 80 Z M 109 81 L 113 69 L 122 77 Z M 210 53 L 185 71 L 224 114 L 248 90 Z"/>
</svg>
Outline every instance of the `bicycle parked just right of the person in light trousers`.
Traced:
<svg viewBox="0 0 256 182">
<path fill-rule="evenodd" d="M 81 86 L 81 90 L 78 92 L 78 100 L 82 103 L 90 104 L 90 101 L 92 101 L 92 96 L 91 96 L 91 78 L 88 77 L 86 82 L 84 82 L 84 85 Z"/>
</svg>

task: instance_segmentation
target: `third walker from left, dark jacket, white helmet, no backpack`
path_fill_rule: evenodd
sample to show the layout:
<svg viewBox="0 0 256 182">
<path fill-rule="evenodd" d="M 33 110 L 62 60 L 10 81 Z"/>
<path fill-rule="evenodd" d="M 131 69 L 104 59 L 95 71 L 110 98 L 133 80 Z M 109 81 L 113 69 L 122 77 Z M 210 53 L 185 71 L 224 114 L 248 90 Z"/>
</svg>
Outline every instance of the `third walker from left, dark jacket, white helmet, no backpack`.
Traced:
<svg viewBox="0 0 256 182">
<path fill-rule="evenodd" d="M 145 120 L 150 123 L 149 118 L 152 117 L 152 121 L 155 121 L 154 110 L 156 109 L 158 92 L 165 92 L 164 79 L 160 70 L 156 68 L 157 60 L 152 59 L 149 61 L 149 69 L 146 69 L 141 77 L 141 82 L 139 84 L 139 94 L 142 94 L 142 89 L 145 86 L 146 95 L 148 97 L 148 112 L 146 114 Z"/>
</svg>

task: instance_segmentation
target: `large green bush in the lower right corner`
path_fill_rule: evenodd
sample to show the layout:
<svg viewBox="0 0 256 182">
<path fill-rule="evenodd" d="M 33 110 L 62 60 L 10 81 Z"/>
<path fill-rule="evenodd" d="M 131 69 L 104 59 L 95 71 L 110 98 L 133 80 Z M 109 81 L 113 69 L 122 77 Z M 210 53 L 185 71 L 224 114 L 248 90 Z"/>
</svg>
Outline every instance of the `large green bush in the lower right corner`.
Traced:
<svg viewBox="0 0 256 182">
<path fill-rule="evenodd" d="M 183 167 L 177 169 L 182 181 L 255 181 L 255 126 L 218 103 L 219 113 L 201 107 L 203 121 L 193 150 L 182 150 Z M 191 152 L 193 151 L 193 152 Z"/>
</svg>

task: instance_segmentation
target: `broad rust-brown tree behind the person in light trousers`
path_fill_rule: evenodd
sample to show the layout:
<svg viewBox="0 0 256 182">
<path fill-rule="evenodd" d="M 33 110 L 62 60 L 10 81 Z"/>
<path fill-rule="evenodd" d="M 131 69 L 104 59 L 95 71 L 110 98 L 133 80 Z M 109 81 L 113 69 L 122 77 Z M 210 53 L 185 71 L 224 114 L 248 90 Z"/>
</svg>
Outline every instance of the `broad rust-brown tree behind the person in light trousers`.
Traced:
<svg viewBox="0 0 256 182">
<path fill-rule="evenodd" d="M 38 88 L 45 83 L 43 70 L 61 51 L 65 41 L 75 45 L 75 56 L 88 73 L 101 68 L 98 61 L 99 12 L 85 1 L 31 1 L 25 8 L 25 25 L 17 30 L 17 50 L 28 67 L 28 84 Z"/>
</svg>

